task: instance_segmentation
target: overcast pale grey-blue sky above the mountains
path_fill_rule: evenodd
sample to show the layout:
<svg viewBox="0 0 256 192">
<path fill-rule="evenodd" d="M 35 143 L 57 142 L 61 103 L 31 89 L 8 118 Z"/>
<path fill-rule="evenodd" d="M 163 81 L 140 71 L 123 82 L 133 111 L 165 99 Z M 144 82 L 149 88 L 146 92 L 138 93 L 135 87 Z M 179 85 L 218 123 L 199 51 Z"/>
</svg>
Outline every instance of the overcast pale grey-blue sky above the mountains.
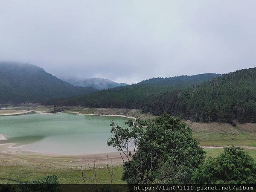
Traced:
<svg viewBox="0 0 256 192">
<path fill-rule="evenodd" d="M 0 60 L 134 83 L 256 66 L 256 1 L 0 0 Z"/>
</svg>

